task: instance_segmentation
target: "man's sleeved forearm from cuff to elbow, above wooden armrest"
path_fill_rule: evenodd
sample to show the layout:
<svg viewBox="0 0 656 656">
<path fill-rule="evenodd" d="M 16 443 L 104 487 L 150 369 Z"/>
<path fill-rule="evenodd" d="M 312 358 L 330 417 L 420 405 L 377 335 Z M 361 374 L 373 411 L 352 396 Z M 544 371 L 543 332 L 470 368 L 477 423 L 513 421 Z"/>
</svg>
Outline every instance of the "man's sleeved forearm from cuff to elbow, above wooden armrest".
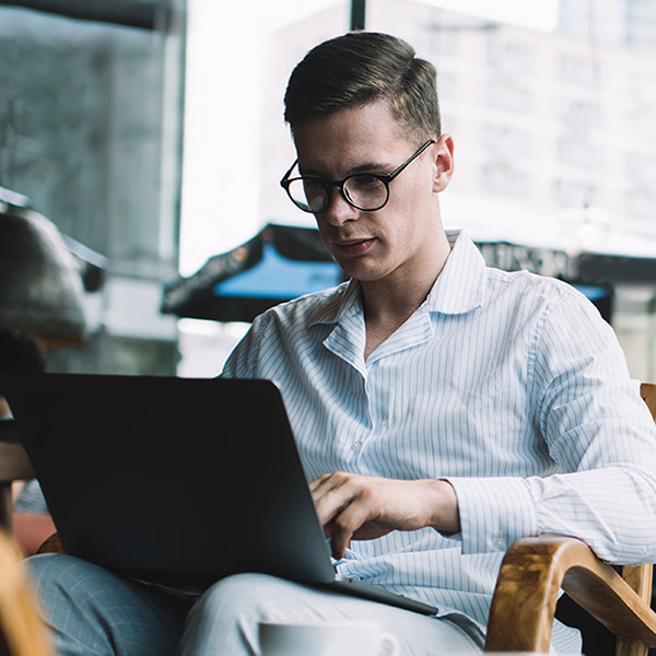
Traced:
<svg viewBox="0 0 656 656">
<path fill-rule="evenodd" d="M 604 560 L 656 560 L 656 481 L 608 467 L 547 478 L 453 479 L 464 553 L 505 551 L 525 536 L 579 538 Z"/>
</svg>

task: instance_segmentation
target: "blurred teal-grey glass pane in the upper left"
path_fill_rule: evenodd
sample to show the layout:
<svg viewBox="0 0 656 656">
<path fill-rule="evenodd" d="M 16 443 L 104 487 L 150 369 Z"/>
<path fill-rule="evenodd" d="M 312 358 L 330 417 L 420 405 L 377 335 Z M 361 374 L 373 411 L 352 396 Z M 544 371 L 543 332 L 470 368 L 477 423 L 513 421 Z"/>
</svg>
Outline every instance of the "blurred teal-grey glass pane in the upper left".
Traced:
<svg viewBox="0 0 656 656">
<path fill-rule="evenodd" d="M 179 124 L 169 118 L 181 94 L 169 55 L 161 32 L 0 8 L 0 186 L 115 272 L 176 268 Z"/>
</svg>

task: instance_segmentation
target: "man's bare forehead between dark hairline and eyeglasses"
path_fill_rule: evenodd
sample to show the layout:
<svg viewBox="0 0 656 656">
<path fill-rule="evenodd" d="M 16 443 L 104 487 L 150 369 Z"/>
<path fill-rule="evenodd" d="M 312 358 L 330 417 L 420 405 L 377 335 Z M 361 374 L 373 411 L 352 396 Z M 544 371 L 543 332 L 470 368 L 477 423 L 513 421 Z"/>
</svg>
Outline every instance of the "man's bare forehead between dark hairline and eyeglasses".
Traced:
<svg viewBox="0 0 656 656">
<path fill-rule="evenodd" d="M 302 171 L 339 176 L 366 163 L 398 165 L 412 140 L 387 101 L 340 109 L 294 126 Z"/>
</svg>

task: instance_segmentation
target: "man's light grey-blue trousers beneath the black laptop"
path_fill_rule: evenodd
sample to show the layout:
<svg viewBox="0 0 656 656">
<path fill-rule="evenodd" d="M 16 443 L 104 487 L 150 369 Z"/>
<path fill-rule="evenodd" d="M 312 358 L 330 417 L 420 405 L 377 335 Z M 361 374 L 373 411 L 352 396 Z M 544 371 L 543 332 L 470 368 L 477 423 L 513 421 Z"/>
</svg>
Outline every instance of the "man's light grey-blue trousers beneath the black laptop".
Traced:
<svg viewBox="0 0 656 656">
<path fill-rule="evenodd" d="M 480 654 L 459 617 L 435 619 L 263 574 L 214 584 L 192 604 L 61 554 L 26 561 L 58 656 L 259 655 L 258 622 L 379 622 L 401 654 Z"/>
</svg>

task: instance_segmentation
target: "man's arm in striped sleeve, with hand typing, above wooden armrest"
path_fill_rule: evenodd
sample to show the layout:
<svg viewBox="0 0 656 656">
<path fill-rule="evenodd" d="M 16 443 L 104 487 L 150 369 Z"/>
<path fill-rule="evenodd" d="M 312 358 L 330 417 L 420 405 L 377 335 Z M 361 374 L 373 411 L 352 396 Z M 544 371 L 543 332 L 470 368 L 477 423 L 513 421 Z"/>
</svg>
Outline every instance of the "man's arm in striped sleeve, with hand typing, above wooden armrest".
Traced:
<svg viewBox="0 0 656 656">
<path fill-rule="evenodd" d="M 606 560 L 654 560 L 654 424 L 612 330 L 595 313 L 566 296 L 546 309 L 532 344 L 535 422 L 563 473 L 449 478 L 448 494 L 445 481 L 321 477 L 312 488 L 336 555 L 351 537 L 424 526 L 452 534 L 461 525 L 465 553 L 555 532 L 585 540 Z"/>
</svg>

